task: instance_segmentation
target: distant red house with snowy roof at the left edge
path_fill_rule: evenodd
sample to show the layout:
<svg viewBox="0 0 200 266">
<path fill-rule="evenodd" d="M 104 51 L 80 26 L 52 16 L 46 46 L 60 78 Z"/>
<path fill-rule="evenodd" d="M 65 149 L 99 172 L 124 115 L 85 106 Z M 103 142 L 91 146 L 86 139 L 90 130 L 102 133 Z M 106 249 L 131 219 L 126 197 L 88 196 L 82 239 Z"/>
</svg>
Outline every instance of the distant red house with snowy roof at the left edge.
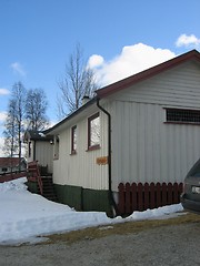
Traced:
<svg viewBox="0 0 200 266">
<path fill-rule="evenodd" d="M 27 170 L 24 158 L 19 157 L 0 157 L 0 174 L 13 173 Z"/>
</svg>

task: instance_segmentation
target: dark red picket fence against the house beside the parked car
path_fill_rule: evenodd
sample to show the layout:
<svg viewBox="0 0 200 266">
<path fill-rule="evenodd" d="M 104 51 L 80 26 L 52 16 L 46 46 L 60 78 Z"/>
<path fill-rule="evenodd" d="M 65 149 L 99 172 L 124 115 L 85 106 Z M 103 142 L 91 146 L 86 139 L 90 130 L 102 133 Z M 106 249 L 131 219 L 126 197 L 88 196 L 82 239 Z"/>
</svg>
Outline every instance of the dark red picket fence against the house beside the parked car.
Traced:
<svg viewBox="0 0 200 266">
<path fill-rule="evenodd" d="M 133 211 L 161 207 L 180 203 L 182 183 L 120 183 L 119 186 L 119 212 L 131 214 Z"/>
</svg>

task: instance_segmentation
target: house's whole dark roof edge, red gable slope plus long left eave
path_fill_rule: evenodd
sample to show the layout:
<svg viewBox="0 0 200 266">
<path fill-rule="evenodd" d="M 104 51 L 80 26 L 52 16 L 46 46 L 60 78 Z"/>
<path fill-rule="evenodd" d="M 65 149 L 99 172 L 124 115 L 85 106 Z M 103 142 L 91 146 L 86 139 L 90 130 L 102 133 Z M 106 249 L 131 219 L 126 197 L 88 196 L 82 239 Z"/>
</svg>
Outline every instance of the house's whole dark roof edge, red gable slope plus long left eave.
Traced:
<svg viewBox="0 0 200 266">
<path fill-rule="evenodd" d="M 200 53 L 197 50 L 191 50 L 187 53 L 183 53 L 177 58 L 173 58 L 171 60 L 168 60 L 161 64 L 158 64 L 156 66 L 152 66 L 148 70 L 144 70 L 142 72 L 139 72 L 134 75 L 131 75 L 127 79 L 123 79 L 121 81 L 118 81 L 116 83 L 112 83 L 110 85 L 107 85 L 102 89 L 99 89 L 96 91 L 97 96 L 91 99 L 90 101 L 88 101 L 84 105 L 82 105 L 81 108 L 79 108 L 77 111 L 74 111 L 73 113 L 71 113 L 69 116 L 67 116 L 66 119 L 63 119 L 62 121 L 60 121 L 59 123 L 57 123 L 56 125 L 53 125 L 51 129 L 47 130 L 46 133 L 49 134 L 52 130 L 58 129 L 60 125 L 62 125 L 64 122 L 67 122 L 68 120 L 72 119 L 73 116 L 76 116 L 78 113 L 82 112 L 84 109 L 87 109 L 89 105 L 91 105 L 92 103 L 94 103 L 97 101 L 97 99 L 102 99 L 102 98 L 107 98 L 109 95 L 111 95 L 112 93 L 119 92 L 121 90 L 124 90 L 138 82 L 144 81 L 149 78 L 152 78 L 153 75 L 157 75 L 163 71 L 167 71 L 169 69 L 172 69 L 186 61 L 190 61 L 190 60 L 197 60 L 200 61 Z"/>
</svg>

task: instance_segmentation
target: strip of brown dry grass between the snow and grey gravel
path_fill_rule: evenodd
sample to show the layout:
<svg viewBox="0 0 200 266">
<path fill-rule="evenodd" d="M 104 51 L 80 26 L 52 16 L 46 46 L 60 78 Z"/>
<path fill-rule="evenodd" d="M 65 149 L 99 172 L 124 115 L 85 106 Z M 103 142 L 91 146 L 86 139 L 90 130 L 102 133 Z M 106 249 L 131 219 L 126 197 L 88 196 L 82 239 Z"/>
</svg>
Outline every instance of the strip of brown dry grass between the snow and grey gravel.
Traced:
<svg viewBox="0 0 200 266">
<path fill-rule="evenodd" d="M 180 225 L 188 223 L 199 223 L 200 215 L 197 214 L 184 214 L 176 218 L 169 219 L 146 219 L 138 222 L 124 222 L 114 225 L 104 225 L 98 227 L 90 227 L 86 229 L 79 229 L 68 232 L 64 234 L 54 234 L 48 236 L 49 241 L 47 244 L 53 244 L 58 242 L 72 244 L 79 241 L 90 241 L 94 238 L 101 238 L 110 235 L 126 235 L 132 233 L 139 233 L 154 227 Z"/>
</svg>

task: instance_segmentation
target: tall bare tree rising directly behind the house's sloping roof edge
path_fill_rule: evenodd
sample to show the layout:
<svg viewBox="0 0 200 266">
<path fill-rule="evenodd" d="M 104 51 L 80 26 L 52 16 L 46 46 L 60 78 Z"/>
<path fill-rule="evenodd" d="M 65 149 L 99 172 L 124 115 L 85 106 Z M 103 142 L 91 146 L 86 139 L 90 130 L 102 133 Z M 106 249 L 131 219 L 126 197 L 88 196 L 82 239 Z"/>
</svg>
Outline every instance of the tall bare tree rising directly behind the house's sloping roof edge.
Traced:
<svg viewBox="0 0 200 266">
<path fill-rule="evenodd" d="M 94 90 L 98 88 L 94 73 L 87 66 L 80 44 L 77 44 L 74 52 L 69 57 L 59 88 L 61 95 L 58 98 L 57 105 L 60 117 L 80 108 L 83 96 L 94 95 Z"/>
</svg>

